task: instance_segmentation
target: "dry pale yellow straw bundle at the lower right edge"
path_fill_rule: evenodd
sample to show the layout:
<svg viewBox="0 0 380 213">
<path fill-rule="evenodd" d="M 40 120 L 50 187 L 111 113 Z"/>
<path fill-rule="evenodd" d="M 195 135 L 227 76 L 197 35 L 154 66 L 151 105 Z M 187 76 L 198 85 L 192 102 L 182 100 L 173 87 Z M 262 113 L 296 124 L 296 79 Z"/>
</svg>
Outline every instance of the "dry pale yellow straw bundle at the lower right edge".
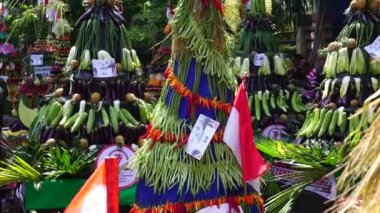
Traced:
<svg viewBox="0 0 380 213">
<path fill-rule="evenodd" d="M 356 115 L 373 111 L 380 106 L 380 90 L 374 93 L 365 106 Z M 372 109 L 371 109 L 372 108 Z M 345 202 L 337 202 L 331 212 L 380 212 L 380 204 L 376 198 L 380 196 L 380 111 L 374 114 L 374 120 L 364 132 L 364 136 L 343 161 L 339 169 L 342 174 L 338 179 L 338 189 Z M 360 200 L 360 206 L 357 205 Z"/>
</svg>

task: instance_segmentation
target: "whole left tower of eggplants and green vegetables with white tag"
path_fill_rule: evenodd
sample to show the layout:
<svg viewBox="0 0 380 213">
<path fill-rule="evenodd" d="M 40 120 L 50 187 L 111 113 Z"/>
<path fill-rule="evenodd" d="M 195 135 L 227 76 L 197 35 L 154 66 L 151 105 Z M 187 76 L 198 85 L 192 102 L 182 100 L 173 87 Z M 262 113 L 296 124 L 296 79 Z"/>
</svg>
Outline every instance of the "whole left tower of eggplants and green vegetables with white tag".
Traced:
<svg viewBox="0 0 380 213">
<path fill-rule="evenodd" d="M 64 67 L 69 79 L 46 97 L 31 137 L 42 143 L 78 138 L 88 144 L 137 143 L 153 107 L 141 99 L 140 60 L 130 47 L 126 21 L 113 1 L 84 3 L 87 11 L 76 23 L 78 37 Z M 112 73 L 99 76 L 94 60 L 114 61 Z"/>
</svg>

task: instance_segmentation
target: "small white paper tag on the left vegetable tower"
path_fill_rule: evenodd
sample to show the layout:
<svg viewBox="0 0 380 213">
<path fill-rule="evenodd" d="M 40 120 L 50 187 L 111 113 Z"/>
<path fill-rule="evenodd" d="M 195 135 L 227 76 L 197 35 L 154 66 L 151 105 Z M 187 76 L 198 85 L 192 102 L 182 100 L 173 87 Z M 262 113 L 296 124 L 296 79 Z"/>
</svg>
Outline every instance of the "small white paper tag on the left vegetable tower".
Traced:
<svg viewBox="0 0 380 213">
<path fill-rule="evenodd" d="M 117 76 L 115 59 L 92 60 L 94 78 L 112 78 Z"/>
</svg>

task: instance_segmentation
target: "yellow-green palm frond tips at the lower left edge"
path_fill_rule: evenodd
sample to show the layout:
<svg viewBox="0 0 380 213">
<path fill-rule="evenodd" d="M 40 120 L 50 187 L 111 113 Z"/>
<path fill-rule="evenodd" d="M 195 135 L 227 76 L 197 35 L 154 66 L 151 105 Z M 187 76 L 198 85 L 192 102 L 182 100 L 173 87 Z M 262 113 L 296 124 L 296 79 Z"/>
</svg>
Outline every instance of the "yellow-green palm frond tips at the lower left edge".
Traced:
<svg viewBox="0 0 380 213">
<path fill-rule="evenodd" d="M 41 173 L 19 156 L 0 162 L 0 186 L 12 182 L 36 182 L 40 178 Z"/>
</svg>

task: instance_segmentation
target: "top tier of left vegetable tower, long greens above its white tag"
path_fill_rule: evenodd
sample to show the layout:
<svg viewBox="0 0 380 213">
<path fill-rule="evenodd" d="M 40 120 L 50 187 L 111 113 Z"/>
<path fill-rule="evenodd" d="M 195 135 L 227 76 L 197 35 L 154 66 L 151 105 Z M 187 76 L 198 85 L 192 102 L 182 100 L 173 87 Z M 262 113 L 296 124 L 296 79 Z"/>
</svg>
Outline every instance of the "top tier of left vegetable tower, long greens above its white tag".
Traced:
<svg viewBox="0 0 380 213">
<path fill-rule="evenodd" d="M 86 12 L 78 19 L 75 28 L 78 37 L 66 60 L 65 72 L 91 71 L 93 59 L 114 58 L 119 73 L 140 69 L 140 60 L 131 48 L 126 20 L 111 3 L 87 2 Z"/>
</svg>

